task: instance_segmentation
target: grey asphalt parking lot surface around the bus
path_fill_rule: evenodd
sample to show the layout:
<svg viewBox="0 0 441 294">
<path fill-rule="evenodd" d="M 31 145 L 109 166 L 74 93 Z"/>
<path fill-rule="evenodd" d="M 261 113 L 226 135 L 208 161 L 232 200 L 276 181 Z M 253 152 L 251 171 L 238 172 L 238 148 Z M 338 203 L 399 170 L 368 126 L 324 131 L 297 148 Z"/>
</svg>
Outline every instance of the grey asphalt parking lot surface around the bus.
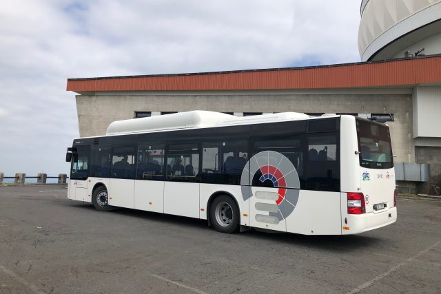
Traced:
<svg viewBox="0 0 441 294">
<path fill-rule="evenodd" d="M 0 187 L 0 293 L 441 293 L 440 201 L 399 199 L 360 235 L 227 235 L 66 194 Z"/>
</svg>

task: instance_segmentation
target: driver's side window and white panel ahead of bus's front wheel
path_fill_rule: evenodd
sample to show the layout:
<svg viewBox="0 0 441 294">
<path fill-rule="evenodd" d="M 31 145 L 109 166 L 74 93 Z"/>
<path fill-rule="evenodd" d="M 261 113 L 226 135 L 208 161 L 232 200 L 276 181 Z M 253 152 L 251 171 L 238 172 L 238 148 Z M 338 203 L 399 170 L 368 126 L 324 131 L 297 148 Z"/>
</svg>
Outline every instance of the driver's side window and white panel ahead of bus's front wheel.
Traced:
<svg viewBox="0 0 441 294">
<path fill-rule="evenodd" d="M 88 198 L 90 146 L 79 146 L 72 152 L 70 188 L 72 199 L 90 202 Z"/>
</svg>

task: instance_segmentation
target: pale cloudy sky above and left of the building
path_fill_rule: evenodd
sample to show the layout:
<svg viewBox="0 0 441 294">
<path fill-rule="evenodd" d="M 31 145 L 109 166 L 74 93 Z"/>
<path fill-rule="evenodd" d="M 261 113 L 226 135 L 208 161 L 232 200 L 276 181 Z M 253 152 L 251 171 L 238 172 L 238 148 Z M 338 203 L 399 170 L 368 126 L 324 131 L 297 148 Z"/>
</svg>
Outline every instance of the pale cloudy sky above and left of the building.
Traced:
<svg viewBox="0 0 441 294">
<path fill-rule="evenodd" d="M 0 171 L 68 173 L 68 78 L 360 61 L 359 0 L 2 0 Z"/>
</svg>

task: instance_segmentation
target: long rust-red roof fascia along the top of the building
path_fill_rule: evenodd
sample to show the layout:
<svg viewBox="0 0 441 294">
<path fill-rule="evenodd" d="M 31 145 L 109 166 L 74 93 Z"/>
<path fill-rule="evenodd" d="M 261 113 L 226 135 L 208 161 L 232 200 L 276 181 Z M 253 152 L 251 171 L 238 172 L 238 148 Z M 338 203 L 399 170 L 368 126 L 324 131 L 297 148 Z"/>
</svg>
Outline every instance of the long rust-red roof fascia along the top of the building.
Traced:
<svg viewBox="0 0 441 294">
<path fill-rule="evenodd" d="M 68 91 L 283 90 L 441 83 L 441 56 L 305 68 L 69 79 Z"/>
</svg>

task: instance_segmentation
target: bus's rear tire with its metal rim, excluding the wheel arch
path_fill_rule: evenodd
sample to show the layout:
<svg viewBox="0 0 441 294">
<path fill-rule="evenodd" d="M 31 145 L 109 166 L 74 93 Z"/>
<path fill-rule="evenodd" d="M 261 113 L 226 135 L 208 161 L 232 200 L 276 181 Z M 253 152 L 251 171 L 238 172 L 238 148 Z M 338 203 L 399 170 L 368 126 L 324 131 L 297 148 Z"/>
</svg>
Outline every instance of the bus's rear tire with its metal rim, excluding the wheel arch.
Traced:
<svg viewBox="0 0 441 294">
<path fill-rule="evenodd" d="M 220 195 L 213 200 L 209 216 L 214 229 L 221 233 L 234 233 L 240 227 L 237 204 L 227 195 Z"/>
</svg>

